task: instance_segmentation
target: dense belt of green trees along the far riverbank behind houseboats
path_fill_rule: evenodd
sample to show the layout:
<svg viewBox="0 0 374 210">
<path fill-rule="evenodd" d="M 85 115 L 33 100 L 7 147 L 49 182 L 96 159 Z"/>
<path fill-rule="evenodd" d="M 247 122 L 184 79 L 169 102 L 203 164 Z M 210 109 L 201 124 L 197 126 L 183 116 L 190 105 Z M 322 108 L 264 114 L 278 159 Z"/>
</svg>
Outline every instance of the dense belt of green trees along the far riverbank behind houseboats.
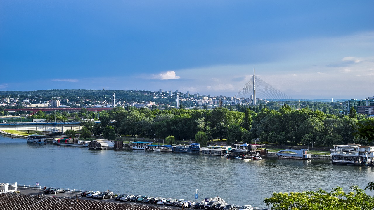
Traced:
<svg viewBox="0 0 374 210">
<path fill-rule="evenodd" d="M 101 135 L 105 127 L 112 127 L 116 135 L 147 138 L 172 135 L 177 140 L 195 139 L 197 132 L 203 132 L 208 139 L 226 139 L 228 144 L 258 139 L 259 142 L 278 145 L 306 145 L 308 142 L 316 146 L 346 143 L 373 145 L 373 142 L 355 134 L 359 122 L 357 116 L 331 115 L 309 108 L 291 109 L 287 104 L 279 110 L 262 108 L 258 112 L 249 108 L 242 112 L 227 108 L 171 108 L 161 111 L 118 107 L 100 112 L 100 124 L 90 121 L 82 124 L 93 135 Z"/>
</svg>

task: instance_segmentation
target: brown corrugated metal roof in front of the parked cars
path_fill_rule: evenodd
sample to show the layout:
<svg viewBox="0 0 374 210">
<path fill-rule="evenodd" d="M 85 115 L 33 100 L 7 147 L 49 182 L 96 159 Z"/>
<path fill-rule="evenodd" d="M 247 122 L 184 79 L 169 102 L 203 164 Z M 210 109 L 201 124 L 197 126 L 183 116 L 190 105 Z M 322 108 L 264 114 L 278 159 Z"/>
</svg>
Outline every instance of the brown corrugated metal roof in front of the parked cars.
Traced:
<svg viewBox="0 0 374 210">
<path fill-rule="evenodd" d="M 162 210 L 165 208 L 129 203 L 76 200 L 37 195 L 0 194 L 0 210 Z"/>
</svg>

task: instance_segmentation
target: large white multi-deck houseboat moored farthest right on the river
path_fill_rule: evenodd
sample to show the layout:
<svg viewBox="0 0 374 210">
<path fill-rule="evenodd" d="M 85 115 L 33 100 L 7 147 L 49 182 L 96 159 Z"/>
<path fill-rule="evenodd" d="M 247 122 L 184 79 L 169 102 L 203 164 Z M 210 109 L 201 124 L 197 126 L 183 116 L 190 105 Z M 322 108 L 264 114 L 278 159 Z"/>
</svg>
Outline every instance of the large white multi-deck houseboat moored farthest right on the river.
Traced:
<svg viewBox="0 0 374 210">
<path fill-rule="evenodd" d="M 334 164 L 374 165 L 374 146 L 348 143 L 346 145 L 334 145 L 334 149 L 330 149 L 330 152 Z"/>
</svg>

